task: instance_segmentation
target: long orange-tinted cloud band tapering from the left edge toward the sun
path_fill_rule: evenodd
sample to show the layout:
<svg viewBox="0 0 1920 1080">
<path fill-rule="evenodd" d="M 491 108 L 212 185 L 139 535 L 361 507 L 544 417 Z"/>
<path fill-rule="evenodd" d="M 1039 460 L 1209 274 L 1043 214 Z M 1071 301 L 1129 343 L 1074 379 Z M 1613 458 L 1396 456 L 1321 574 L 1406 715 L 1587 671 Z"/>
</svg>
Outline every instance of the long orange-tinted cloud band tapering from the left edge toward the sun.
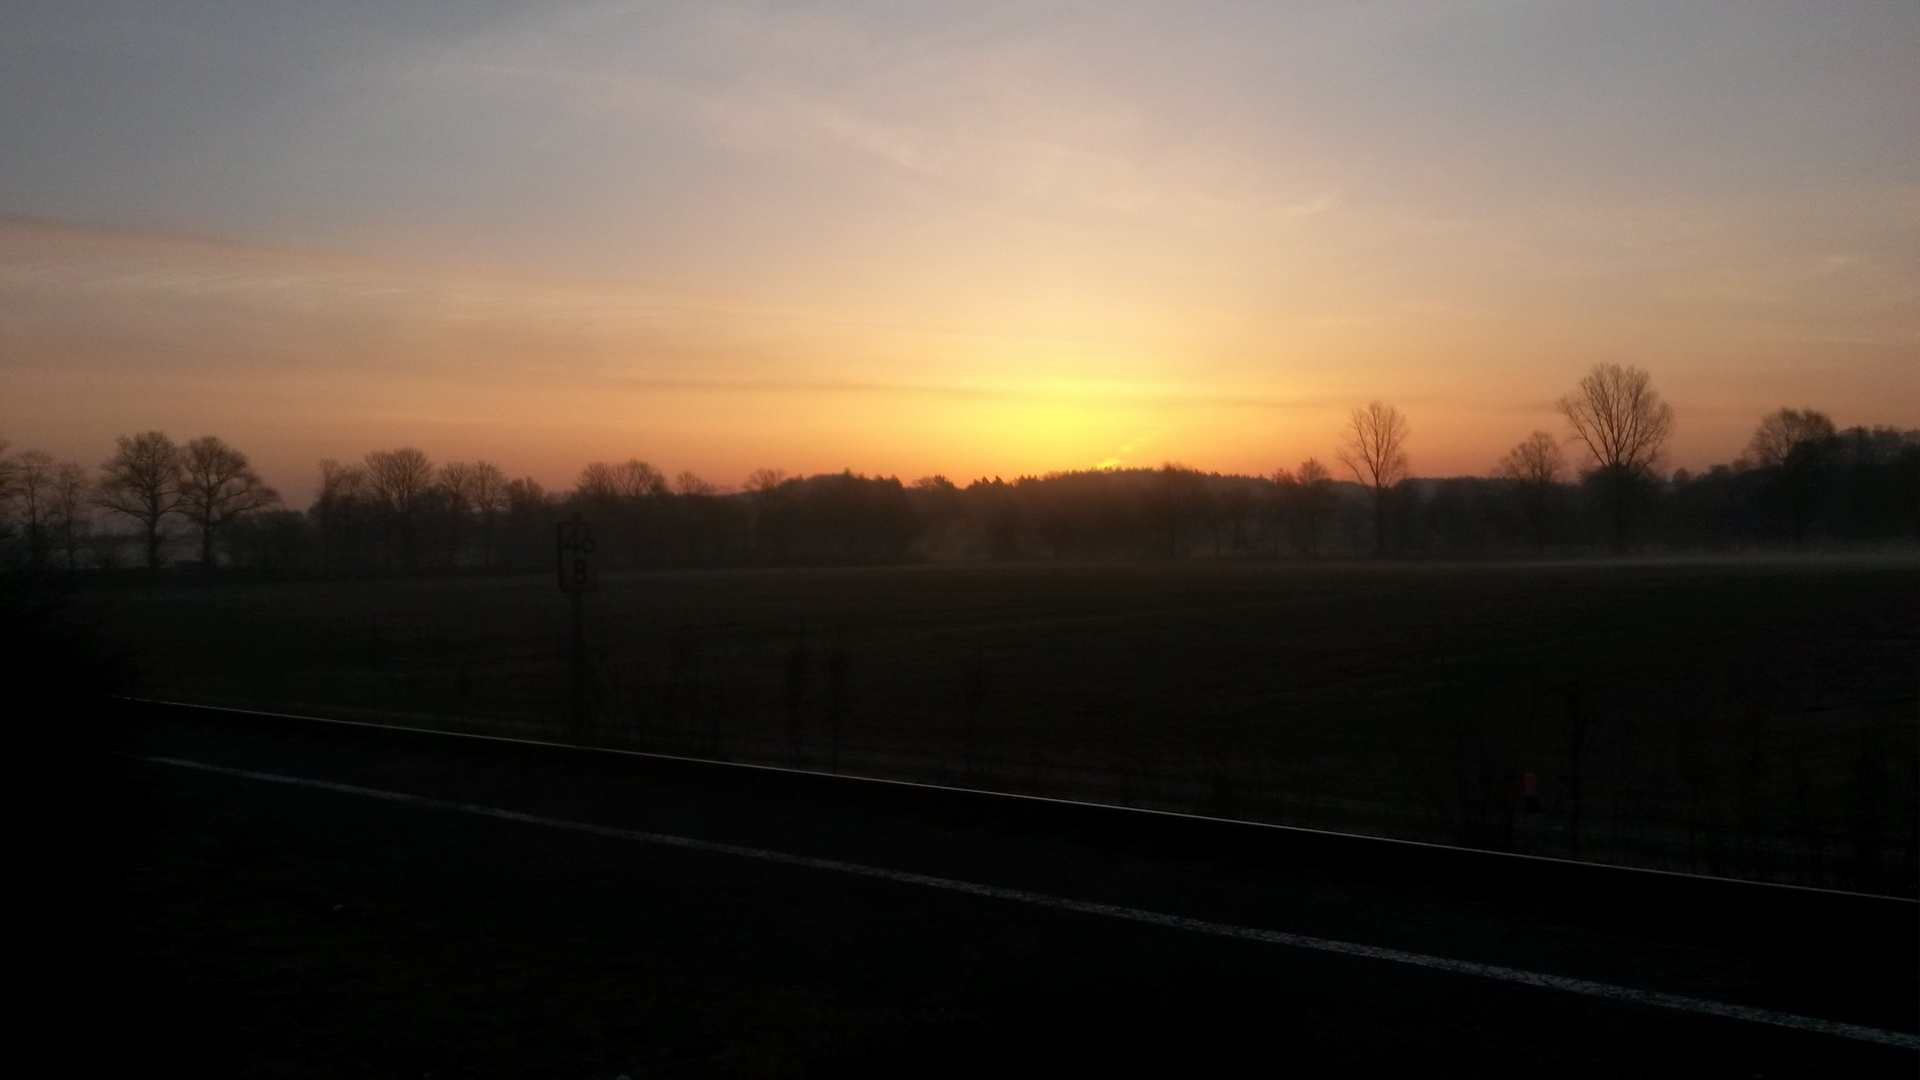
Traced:
<svg viewBox="0 0 1920 1080">
<path fill-rule="evenodd" d="M 1100 342 L 0 217 L 0 346 L 15 369 L 563 377 L 668 394 L 902 396 L 1294 409 L 1204 379 L 1066 377 Z M 924 357 L 947 357 L 939 363 Z M 920 379 L 879 377 L 916 371 Z"/>
</svg>

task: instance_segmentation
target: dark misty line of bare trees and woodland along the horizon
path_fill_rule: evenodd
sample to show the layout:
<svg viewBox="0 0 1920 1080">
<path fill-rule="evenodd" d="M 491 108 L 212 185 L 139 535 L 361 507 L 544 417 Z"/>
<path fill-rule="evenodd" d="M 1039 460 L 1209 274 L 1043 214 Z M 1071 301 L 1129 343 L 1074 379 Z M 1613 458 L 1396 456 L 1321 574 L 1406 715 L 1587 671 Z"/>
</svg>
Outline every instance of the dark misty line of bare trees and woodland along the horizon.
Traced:
<svg viewBox="0 0 1920 1080">
<path fill-rule="evenodd" d="M 549 492 L 488 461 L 413 448 L 321 461 L 286 509 L 246 454 L 129 434 L 98 469 L 0 442 L 0 559 L 23 571 L 240 569 L 267 575 L 524 571 L 555 525 L 595 525 L 611 569 L 914 559 L 1494 557 L 1713 552 L 1920 538 L 1920 430 L 1839 430 L 1814 409 L 1763 417 L 1747 454 L 1659 469 L 1672 411 L 1644 371 L 1601 365 L 1561 400 L 1571 436 L 1532 432 L 1490 477 L 1407 475 L 1407 421 L 1354 409 L 1340 479 L 1315 459 L 1271 477 L 1098 469 L 1044 477 L 756 471 L 722 492 L 634 459 Z"/>
</svg>

